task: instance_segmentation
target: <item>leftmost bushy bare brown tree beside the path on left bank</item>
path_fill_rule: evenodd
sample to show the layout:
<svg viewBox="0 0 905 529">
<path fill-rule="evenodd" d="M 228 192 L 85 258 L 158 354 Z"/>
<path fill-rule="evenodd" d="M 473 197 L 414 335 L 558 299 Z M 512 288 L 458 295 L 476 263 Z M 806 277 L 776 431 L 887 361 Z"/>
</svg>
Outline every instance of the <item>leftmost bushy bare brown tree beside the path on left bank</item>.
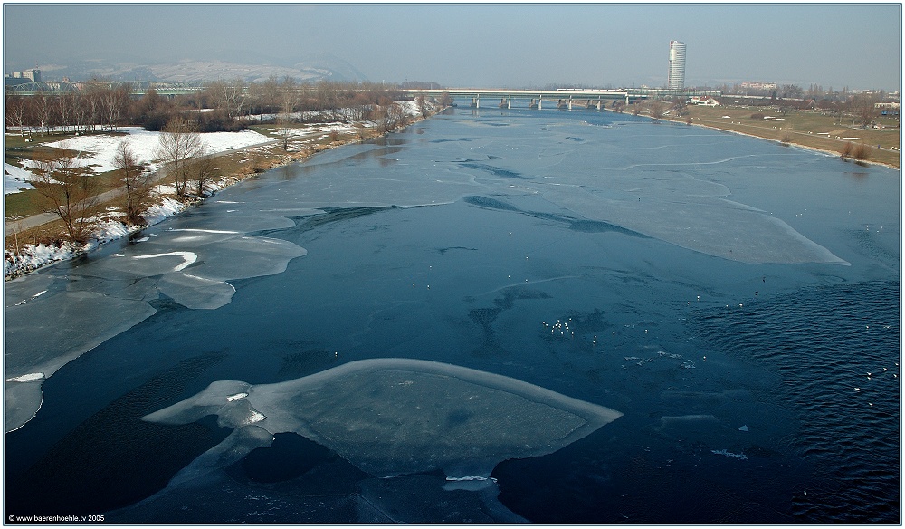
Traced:
<svg viewBox="0 0 905 529">
<path fill-rule="evenodd" d="M 97 226 L 100 182 L 74 157 L 39 157 L 32 180 L 43 209 L 59 216 L 74 243 L 85 243 Z"/>
</svg>

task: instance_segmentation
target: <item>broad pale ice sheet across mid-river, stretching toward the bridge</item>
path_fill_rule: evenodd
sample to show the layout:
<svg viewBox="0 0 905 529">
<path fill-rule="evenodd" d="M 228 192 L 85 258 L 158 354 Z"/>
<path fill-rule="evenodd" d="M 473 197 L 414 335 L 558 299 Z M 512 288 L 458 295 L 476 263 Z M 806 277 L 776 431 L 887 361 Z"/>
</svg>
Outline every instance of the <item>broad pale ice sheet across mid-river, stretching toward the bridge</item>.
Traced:
<svg viewBox="0 0 905 529">
<path fill-rule="evenodd" d="M 461 124 L 510 129 L 491 127 L 491 121 Z M 335 153 L 320 159 L 319 170 L 302 165 L 303 178 L 271 182 L 260 191 L 285 207 L 419 206 L 468 196 L 539 195 L 586 220 L 733 261 L 847 264 L 770 212 L 730 200 L 732 190 L 709 177 L 720 166 L 741 170 L 753 159 L 750 152 L 710 150 L 715 154 L 708 158 L 687 149 L 690 137 L 670 130 L 652 130 L 653 139 L 640 146 L 607 136 L 616 133 L 624 136 L 624 130 L 549 125 L 538 131 L 538 144 L 525 147 L 490 131 L 470 141 L 440 137 L 430 144 L 430 160 L 403 145 L 393 154 L 392 172 L 367 159 L 367 150 L 351 157 L 355 171 L 348 170 L 348 156 Z M 576 135 L 590 145 L 568 140 Z M 607 149 L 605 156 L 599 147 Z"/>
</svg>

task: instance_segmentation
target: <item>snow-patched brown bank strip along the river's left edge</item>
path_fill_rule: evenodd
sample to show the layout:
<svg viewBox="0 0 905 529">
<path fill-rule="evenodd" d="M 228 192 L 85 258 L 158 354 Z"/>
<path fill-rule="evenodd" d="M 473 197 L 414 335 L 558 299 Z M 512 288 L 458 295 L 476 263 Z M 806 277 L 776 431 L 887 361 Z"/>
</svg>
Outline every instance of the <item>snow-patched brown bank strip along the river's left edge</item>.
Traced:
<svg viewBox="0 0 905 529">
<path fill-rule="evenodd" d="M 218 165 L 221 166 L 224 174 L 205 185 L 204 196 L 178 197 L 172 183 L 168 181 L 168 178 L 163 178 L 158 182 L 155 190 L 157 201 L 143 215 L 146 223 L 142 225 L 128 226 L 123 223 L 119 220 L 122 214 L 117 211 L 115 201 L 110 201 L 108 204 L 110 207 L 107 207 L 104 217 L 99 219 L 98 230 L 84 245 L 62 240 L 58 235 L 62 232 L 62 220 L 56 217 L 45 216 L 37 219 L 35 226 L 19 227 L 18 229 L 10 229 L 10 226 L 15 226 L 17 222 L 24 224 L 26 219 L 8 221 L 5 223 L 5 281 L 28 274 L 48 264 L 87 254 L 101 245 L 131 236 L 170 216 L 178 215 L 188 207 L 201 204 L 221 190 L 264 171 L 309 159 L 327 149 L 385 136 L 442 110 L 432 107 L 425 116 L 414 101 L 398 101 L 398 103 L 403 109 L 405 120 L 389 130 L 382 130 L 382 127 L 372 121 L 355 121 L 342 126 L 332 126 L 329 123 L 300 126 L 295 133 L 291 134 L 291 139 L 285 142 L 285 146 L 281 139 L 268 139 L 260 144 L 218 153 Z M 256 128 L 267 129 L 266 126 L 256 126 Z M 262 138 L 266 137 L 262 136 Z"/>
</svg>

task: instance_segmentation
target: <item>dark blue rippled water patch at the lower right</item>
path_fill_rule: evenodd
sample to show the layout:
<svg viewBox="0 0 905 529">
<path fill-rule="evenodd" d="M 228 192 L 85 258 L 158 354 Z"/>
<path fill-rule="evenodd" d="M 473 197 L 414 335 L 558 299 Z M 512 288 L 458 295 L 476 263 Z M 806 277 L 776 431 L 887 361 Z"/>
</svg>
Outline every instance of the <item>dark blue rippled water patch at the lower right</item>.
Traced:
<svg viewBox="0 0 905 529">
<path fill-rule="evenodd" d="M 800 414 L 792 446 L 813 465 L 796 521 L 898 523 L 899 284 L 811 288 L 699 313 L 711 346 L 778 370 L 776 399 Z"/>
</svg>

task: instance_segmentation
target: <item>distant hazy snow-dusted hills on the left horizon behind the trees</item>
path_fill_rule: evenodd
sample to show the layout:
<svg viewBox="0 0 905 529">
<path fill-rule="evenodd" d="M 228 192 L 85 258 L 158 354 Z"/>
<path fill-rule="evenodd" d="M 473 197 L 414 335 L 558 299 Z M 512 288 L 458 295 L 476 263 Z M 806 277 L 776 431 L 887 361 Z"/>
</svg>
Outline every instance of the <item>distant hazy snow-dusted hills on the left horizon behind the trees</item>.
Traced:
<svg viewBox="0 0 905 529">
<path fill-rule="evenodd" d="M 355 66 L 327 53 L 301 56 L 297 60 L 281 64 L 268 58 L 241 57 L 239 60 L 198 60 L 183 59 L 166 63 L 143 61 L 101 61 L 73 60 L 62 64 L 38 64 L 44 81 L 87 81 L 91 78 L 112 81 L 153 81 L 153 82 L 207 82 L 242 79 L 245 82 L 262 82 L 275 76 L 282 79 L 293 77 L 300 82 L 346 81 L 367 82 L 367 76 Z M 260 60 L 260 62 L 259 62 Z M 35 67 L 7 63 L 7 70 L 18 71 Z M 8 72 L 7 72 L 8 73 Z"/>
</svg>

